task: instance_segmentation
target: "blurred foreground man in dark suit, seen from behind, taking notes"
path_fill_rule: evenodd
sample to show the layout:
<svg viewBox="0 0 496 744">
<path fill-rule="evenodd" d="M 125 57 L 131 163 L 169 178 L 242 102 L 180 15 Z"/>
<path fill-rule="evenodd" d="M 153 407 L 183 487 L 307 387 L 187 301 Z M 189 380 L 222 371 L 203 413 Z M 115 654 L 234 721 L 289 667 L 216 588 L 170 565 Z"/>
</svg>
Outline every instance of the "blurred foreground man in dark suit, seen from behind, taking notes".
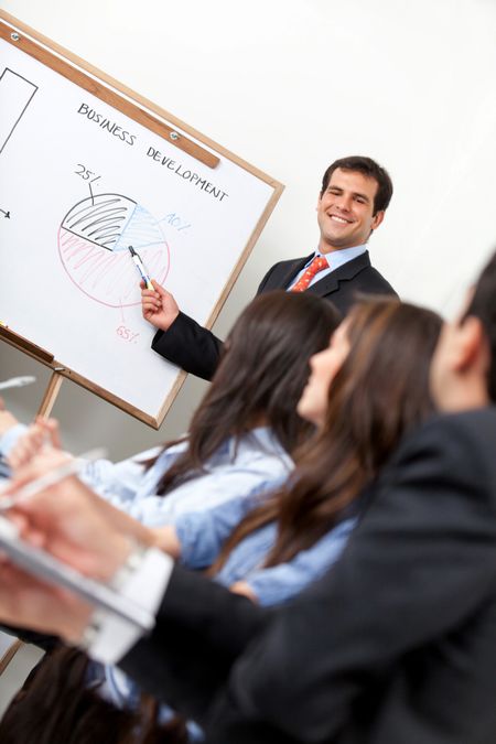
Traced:
<svg viewBox="0 0 496 744">
<path fill-rule="evenodd" d="M 402 442 L 321 581 L 268 612 L 148 551 L 153 632 L 110 654 L 117 634 L 105 621 L 90 653 L 121 658 L 212 744 L 494 744 L 495 296 L 496 256 L 439 342 L 431 384 L 442 412 Z M 111 576 L 130 553 L 80 484 L 21 511 L 24 529 L 94 575 Z M 80 638 L 86 605 L 10 571 L 0 617 Z M 131 575 L 144 603 L 144 569 Z"/>
</svg>

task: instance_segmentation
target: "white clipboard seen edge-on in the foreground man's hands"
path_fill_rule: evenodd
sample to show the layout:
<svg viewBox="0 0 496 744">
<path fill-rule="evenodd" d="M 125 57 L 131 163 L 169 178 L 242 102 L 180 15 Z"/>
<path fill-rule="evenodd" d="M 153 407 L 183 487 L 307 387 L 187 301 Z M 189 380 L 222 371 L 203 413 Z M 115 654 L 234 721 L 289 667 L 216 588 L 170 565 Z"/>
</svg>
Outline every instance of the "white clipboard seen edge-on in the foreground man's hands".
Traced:
<svg viewBox="0 0 496 744">
<path fill-rule="evenodd" d="M 154 617 L 148 611 L 46 551 L 29 544 L 19 537 L 15 525 L 4 517 L 0 517 L 0 550 L 28 573 L 46 583 L 68 589 L 96 607 L 136 626 L 141 633 L 148 633 L 154 626 Z"/>
</svg>

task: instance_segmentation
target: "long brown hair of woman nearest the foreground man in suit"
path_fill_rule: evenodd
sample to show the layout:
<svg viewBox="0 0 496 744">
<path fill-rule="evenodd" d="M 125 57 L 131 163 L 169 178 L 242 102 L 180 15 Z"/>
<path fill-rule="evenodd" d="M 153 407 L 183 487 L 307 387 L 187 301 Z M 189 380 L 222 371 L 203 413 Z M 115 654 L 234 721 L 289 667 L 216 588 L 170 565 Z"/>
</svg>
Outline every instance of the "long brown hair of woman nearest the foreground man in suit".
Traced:
<svg viewBox="0 0 496 744">
<path fill-rule="evenodd" d="M 209 570 L 233 548 L 278 520 L 265 563 L 291 560 L 323 537 L 371 482 L 400 438 L 433 410 L 429 367 L 441 317 L 393 299 L 367 299 L 347 320 L 349 354 L 328 395 L 323 427 L 296 453 L 290 484 L 249 513 Z"/>
</svg>

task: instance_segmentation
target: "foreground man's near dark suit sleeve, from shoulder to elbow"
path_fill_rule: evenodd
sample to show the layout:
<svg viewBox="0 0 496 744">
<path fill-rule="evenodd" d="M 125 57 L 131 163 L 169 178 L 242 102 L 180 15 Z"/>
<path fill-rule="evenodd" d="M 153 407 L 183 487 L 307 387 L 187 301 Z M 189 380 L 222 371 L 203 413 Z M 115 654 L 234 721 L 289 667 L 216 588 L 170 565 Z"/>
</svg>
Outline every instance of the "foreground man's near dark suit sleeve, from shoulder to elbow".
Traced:
<svg viewBox="0 0 496 744">
<path fill-rule="evenodd" d="M 431 422 L 403 445 L 342 560 L 240 657 L 209 742 L 279 741 L 248 735 L 261 722 L 288 741 L 335 741 L 364 689 L 373 697 L 409 651 L 484 606 L 495 581 L 495 474 L 482 438 L 452 423 Z"/>
</svg>

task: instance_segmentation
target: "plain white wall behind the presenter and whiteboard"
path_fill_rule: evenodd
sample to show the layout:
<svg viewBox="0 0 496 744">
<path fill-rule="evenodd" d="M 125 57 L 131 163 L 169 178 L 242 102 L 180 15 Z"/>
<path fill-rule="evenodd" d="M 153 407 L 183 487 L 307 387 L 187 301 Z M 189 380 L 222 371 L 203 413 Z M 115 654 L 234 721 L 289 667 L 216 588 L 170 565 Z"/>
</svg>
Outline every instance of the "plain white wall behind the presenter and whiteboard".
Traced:
<svg viewBox="0 0 496 744">
<path fill-rule="evenodd" d="M 320 181 L 335 158 L 368 154 L 392 175 L 370 251 L 403 299 L 451 314 L 496 246 L 494 0 L 0 7 L 287 184 L 219 316 L 220 335 L 276 260 L 315 247 Z M 0 378 L 37 375 L 35 387 L 6 396 L 26 419 L 48 373 L 4 344 L 0 355 Z M 106 442 L 120 457 L 183 431 L 204 389 L 187 380 L 159 432 L 69 382 L 54 416 L 69 449 Z"/>
</svg>

